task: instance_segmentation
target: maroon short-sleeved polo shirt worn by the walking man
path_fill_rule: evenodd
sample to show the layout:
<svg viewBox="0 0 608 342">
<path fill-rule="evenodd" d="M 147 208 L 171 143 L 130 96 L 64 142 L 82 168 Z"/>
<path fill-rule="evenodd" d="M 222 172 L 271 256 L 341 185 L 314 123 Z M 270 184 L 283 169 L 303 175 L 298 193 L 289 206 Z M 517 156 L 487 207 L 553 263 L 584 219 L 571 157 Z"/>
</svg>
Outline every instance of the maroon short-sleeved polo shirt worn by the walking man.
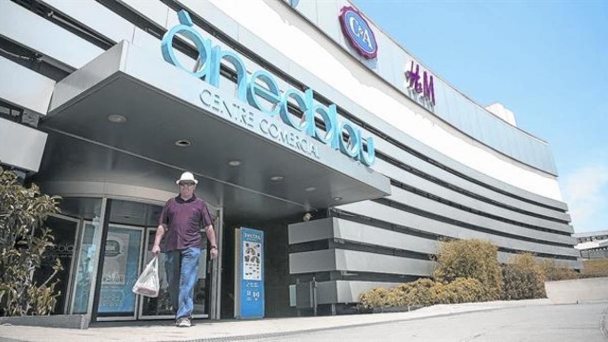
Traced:
<svg viewBox="0 0 608 342">
<path fill-rule="evenodd" d="M 196 196 L 184 201 L 170 198 L 162 209 L 159 225 L 165 228 L 165 251 L 201 247 L 201 228 L 212 224 L 205 201 Z"/>
</svg>

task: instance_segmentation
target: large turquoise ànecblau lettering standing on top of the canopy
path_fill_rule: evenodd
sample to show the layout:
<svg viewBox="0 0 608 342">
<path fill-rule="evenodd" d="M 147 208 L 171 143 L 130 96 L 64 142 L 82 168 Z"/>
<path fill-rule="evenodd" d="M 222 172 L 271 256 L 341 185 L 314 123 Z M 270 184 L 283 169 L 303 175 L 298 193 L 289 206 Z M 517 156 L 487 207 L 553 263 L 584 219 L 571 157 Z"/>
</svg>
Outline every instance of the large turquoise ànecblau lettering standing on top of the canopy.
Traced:
<svg viewBox="0 0 608 342">
<path fill-rule="evenodd" d="M 183 69 L 186 72 L 204 79 L 210 85 L 219 88 L 221 62 L 230 63 L 237 73 L 237 97 L 243 102 L 257 108 L 270 117 L 279 117 L 280 120 L 308 136 L 340 150 L 350 158 L 371 166 L 375 160 L 376 152 L 373 138 L 363 138 L 361 130 L 354 124 L 344 120 L 337 121 L 336 105 L 324 106 L 313 99 L 313 89 L 306 89 L 303 93 L 291 88 L 281 92 L 277 82 L 265 70 L 255 71 L 248 76 L 245 65 L 240 57 L 232 51 L 223 51 L 219 46 L 212 46 L 211 40 L 204 39 L 194 29 L 192 19 L 188 12 L 178 12 L 179 23 L 165 33 L 161 41 L 162 57 L 165 61 Z M 173 51 L 173 39 L 181 34 L 192 41 L 199 54 L 198 68 L 190 71 L 179 63 Z M 268 104 L 262 103 L 261 99 Z M 302 118 L 289 112 L 289 105 L 295 105 L 302 111 Z M 324 127 L 317 127 L 315 119 L 323 122 Z M 348 138 L 343 134 L 346 132 Z"/>
</svg>

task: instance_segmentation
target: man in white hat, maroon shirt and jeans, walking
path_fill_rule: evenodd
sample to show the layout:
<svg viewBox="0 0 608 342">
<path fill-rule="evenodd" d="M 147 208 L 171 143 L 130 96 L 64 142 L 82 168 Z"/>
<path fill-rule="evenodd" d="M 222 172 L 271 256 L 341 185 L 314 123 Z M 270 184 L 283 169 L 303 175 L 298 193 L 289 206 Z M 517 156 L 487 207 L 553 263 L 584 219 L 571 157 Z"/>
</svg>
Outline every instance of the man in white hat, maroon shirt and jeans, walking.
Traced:
<svg viewBox="0 0 608 342">
<path fill-rule="evenodd" d="M 164 251 L 170 301 L 176 309 L 176 326 L 189 327 L 192 326 L 193 290 L 202 247 L 201 228 L 205 229 L 211 244 L 212 259 L 218 256 L 218 245 L 207 204 L 194 195 L 198 184 L 194 175 L 184 172 L 175 183 L 178 184 L 179 195 L 170 198 L 162 209 L 152 253 L 158 255 L 161 252 L 161 239 L 167 234 Z"/>
</svg>

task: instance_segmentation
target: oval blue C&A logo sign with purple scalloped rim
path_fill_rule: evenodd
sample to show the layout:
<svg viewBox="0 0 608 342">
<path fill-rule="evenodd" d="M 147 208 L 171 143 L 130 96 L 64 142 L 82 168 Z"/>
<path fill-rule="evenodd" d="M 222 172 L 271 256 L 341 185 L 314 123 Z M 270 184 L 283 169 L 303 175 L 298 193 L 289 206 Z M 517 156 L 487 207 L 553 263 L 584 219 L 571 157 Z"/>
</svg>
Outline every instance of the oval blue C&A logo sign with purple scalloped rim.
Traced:
<svg viewBox="0 0 608 342">
<path fill-rule="evenodd" d="M 342 33 L 351 46 L 363 57 L 370 60 L 378 55 L 378 43 L 374 32 L 358 10 L 345 6 L 340 10 Z"/>
</svg>

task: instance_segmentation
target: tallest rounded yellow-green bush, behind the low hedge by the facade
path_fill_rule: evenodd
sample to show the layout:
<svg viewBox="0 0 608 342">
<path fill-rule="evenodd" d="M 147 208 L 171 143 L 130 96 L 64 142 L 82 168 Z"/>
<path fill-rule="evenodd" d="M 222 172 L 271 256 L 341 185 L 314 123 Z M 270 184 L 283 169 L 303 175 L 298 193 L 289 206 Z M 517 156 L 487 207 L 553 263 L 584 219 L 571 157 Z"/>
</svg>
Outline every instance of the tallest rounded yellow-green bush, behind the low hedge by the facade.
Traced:
<svg viewBox="0 0 608 342">
<path fill-rule="evenodd" d="M 498 248 L 491 242 L 477 239 L 442 242 L 437 263 L 435 281 L 448 284 L 459 277 L 477 279 L 485 287 L 489 300 L 501 297 Z"/>
</svg>

